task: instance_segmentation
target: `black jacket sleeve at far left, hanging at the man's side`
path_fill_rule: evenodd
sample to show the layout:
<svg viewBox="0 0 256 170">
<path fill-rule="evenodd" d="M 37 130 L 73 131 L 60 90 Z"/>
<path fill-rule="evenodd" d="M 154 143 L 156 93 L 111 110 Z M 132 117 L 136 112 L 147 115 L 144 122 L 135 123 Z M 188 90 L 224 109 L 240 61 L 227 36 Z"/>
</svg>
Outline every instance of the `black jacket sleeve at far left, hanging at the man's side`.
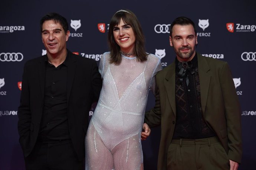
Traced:
<svg viewBox="0 0 256 170">
<path fill-rule="evenodd" d="M 24 66 L 22 76 L 22 91 L 20 96 L 20 106 L 18 108 L 18 118 L 18 132 L 20 136 L 19 141 L 20 145 L 22 146 L 22 149 L 24 150 L 25 139 L 30 135 L 31 125 L 30 90 L 26 64 Z"/>
</svg>

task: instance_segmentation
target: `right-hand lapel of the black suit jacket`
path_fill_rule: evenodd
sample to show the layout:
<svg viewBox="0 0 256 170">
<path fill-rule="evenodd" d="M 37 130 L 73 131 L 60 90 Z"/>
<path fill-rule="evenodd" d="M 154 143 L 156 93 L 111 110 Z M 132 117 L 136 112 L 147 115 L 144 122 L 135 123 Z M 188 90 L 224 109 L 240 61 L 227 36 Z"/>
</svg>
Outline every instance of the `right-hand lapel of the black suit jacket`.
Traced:
<svg viewBox="0 0 256 170">
<path fill-rule="evenodd" d="M 76 59 L 73 58 L 70 51 L 68 51 L 68 77 L 67 77 L 67 102 L 69 103 L 69 96 L 73 85 L 76 72 Z"/>
</svg>

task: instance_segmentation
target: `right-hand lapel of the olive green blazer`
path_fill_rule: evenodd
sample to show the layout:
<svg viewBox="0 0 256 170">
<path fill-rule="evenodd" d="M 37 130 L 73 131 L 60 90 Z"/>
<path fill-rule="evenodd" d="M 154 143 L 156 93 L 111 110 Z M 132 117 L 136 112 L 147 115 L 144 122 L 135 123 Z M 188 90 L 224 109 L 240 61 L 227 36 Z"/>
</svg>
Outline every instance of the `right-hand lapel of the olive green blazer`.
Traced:
<svg viewBox="0 0 256 170">
<path fill-rule="evenodd" d="M 210 68 L 209 68 L 208 62 L 206 61 L 206 58 L 201 56 L 200 54 L 197 54 L 197 61 L 198 61 L 198 72 L 199 72 L 198 74 L 199 74 L 200 91 L 201 91 L 201 107 L 204 115 L 207 97 L 209 93 L 211 75 L 209 72 Z"/>
</svg>

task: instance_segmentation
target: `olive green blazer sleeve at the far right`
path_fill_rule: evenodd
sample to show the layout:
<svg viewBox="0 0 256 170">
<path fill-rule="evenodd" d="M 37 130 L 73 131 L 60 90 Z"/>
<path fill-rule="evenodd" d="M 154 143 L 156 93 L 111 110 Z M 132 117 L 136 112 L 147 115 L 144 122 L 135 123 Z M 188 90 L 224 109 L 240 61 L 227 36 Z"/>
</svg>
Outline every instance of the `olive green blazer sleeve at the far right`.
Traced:
<svg viewBox="0 0 256 170">
<path fill-rule="evenodd" d="M 220 77 L 223 93 L 225 116 L 227 121 L 228 157 L 230 160 L 241 163 L 242 159 L 242 135 L 241 135 L 241 111 L 236 88 L 227 62 L 223 66 Z"/>
</svg>

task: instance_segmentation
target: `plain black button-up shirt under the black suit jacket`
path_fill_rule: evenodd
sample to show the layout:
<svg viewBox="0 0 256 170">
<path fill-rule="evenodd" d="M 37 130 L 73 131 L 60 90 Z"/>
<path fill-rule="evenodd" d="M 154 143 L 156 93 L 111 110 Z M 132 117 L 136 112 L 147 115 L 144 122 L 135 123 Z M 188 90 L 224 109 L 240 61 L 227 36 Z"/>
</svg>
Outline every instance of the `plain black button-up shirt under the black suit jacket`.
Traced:
<svg viewBox="0 0 256 170">
<path fill-rule="evenodd" d="M 45 96 L 39 139 L 70 139 L 67 110 L 68 56 L 58 67 L 45 58 Z"/>
</svg>

